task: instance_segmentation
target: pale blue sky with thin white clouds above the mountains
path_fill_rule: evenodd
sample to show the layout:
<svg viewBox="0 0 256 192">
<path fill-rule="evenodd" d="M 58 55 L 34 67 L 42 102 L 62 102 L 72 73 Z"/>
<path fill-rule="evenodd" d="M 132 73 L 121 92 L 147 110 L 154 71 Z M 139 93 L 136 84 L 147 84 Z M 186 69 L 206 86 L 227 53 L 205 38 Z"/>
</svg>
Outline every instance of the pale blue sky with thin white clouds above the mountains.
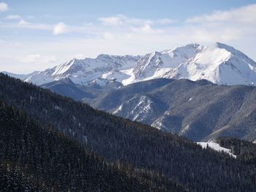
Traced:
<svg viewBox="0 0 256 192">
<path fill-rule="evenodd" d="M 214 42 L 256 61 L 256 0 L 0 0 L 0 71 Z"/>
</svg>

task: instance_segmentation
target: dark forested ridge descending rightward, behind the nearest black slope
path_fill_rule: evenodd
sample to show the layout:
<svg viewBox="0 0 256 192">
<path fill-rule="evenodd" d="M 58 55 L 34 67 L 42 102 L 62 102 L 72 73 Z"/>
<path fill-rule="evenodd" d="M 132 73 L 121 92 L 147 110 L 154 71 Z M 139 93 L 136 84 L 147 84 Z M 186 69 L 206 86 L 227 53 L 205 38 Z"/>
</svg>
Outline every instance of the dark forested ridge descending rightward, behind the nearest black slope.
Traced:
<svg viewBox="0 0 256 192">
<path fill-rule="evenodd" d="M 190 191 L 255 191 L 256 165 L 0 74 L 0 99 L 108 161 L 161 172 Z M 242 177 L 241 177 L 242 175 Z"/>
</svg>

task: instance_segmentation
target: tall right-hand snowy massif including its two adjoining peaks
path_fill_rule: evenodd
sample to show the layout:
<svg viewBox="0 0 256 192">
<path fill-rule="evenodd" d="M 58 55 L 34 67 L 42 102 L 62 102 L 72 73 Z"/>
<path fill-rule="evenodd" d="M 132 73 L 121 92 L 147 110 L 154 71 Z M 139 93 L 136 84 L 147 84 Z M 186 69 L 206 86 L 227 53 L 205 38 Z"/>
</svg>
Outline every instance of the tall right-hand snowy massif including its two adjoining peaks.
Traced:
<svg viewBox="0 0 256 192">
<path fill-rule="evenodd" d="M 244 53 L 219 42 L 209 47 L 191 44 L 145 55 L 123 84 L 161 77 L 252 85 L 256 82 L 256 63 Z"/>
</svg>

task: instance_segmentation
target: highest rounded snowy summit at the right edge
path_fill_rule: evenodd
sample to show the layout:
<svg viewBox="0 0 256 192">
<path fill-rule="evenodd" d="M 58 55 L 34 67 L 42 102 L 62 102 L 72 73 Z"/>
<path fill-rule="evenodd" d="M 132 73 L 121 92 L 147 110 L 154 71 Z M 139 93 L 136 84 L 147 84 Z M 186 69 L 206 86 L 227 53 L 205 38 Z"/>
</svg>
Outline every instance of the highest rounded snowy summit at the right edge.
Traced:
<svg viewBox="0 0 256 192">
<path fill-rule="evenodd" d="M 206 47 L 185 64 L 178 66 L 181 78 L 206 79 L 217 84 L 253 85 L 256 63 L 233 47 L 216 43 Z"/>
</svg>

